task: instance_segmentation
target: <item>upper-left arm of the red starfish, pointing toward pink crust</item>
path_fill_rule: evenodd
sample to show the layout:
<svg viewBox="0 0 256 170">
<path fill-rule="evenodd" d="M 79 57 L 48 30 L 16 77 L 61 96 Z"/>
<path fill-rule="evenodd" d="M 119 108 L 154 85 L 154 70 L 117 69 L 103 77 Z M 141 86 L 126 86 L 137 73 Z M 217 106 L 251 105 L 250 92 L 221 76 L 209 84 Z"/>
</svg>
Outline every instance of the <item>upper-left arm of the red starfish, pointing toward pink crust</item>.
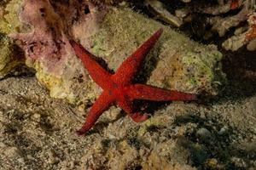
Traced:
<svg viewBox="0 0 256 170">
<path fill-rule="evenodd" d="M 95 59 L 93 59 L 93 54 L 84 49 L 82 45 L 73 40 L 69 41 L 72 45 L 75 54 L 79 56 L 82 60 L 85 69 L 89 72 L 90 77 L 96 82 L 101 88 L 110 88 L 110 77 L 111 74 L 102 68 Z"/>
</svg>

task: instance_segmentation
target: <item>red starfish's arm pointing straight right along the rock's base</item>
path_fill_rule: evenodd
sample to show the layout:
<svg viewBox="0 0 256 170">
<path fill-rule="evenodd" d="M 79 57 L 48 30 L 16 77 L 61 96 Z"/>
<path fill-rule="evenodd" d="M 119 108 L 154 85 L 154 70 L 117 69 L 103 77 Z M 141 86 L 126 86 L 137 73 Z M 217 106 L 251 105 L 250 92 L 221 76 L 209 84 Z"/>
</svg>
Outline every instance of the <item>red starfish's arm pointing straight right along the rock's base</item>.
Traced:
<svg viewBox="0 0 256 170">
<path fill-rule="evenodd" d="M 147 99 L 153 101 L 172 101 L 172 100 L 195 100 L 195 94 L 156 88 L 149 85 L 134 84 L 127 91 L 131 99 Z"/>
</svg>

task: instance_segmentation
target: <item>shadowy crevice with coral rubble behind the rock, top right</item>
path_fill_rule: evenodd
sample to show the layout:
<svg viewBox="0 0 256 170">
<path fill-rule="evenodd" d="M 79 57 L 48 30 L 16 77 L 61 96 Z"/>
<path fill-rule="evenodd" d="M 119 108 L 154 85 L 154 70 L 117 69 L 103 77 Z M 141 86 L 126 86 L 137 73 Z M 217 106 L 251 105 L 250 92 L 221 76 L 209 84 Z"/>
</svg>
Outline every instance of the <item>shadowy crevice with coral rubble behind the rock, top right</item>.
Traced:
<svg viewBox="0 0 256 170">
<path fill-rule="evenodd" d="M 208 40 L 217 32 L 219 37 L 226 37 L 223 42 L 223 48 L 236 51 L 238 48 L 247 45 L 248 50 L 254 50 L 255 38 L 248 40 L 247 33 L 253 30 L 250 25 L 250 16 L 254 15 L 255 1 L 229 0 L 212 1 L 211 3 L 197 1 L 183 1 L 181 5 L 160 2 L 159 0 L 145 0 L 148 11 L 153 13 L 156 18 L 166 23 L 181 27 L 186 23 L 195 31 L 196 37 Z M 175 11 L 175 14 L 172 14 Z M 244 22 L 248 22 L 248 25 Z M 193 28 L 193 26 L 196 28 Z M 235 35 L 226 36 L 231 28 L 244 31 L 235 31 Z M 255 29 L 255 28 L 254 28 Z"/>
</svg>

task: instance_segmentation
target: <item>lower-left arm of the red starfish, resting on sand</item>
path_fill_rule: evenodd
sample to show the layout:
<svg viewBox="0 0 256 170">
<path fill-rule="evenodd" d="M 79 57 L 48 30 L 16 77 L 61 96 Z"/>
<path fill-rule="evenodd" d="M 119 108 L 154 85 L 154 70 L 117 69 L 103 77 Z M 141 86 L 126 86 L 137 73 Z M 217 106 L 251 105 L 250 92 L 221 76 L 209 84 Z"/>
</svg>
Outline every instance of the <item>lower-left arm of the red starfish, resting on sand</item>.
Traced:
<svg viewBox="0 0 256 170">
<path fill-rule="evenodd" d="M 83 135 L 84 133 L 88 132 L 90 128 L 95 125 L 103 111 L 106 111 L 108 107 L 113 104 L 113 102 L 113 96 L 109 95 L 108 92 L 103 92 L 101 96 L 96 99 L 94 105 L 92 105 L 83 127 L 81 127 L 77 133 L 79 135 Z"/>
</svg>

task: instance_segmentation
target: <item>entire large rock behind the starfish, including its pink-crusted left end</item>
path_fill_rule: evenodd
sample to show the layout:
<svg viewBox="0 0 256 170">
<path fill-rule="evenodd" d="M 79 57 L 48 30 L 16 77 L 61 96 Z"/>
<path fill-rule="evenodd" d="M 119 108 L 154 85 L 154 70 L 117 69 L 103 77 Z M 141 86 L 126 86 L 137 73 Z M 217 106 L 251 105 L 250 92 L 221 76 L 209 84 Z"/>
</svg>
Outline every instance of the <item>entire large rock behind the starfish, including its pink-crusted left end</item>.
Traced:
<svg viewBox="0 0 256 170">
<path fill-rule="evenodd" d="M 26 65 L 37 71 L 38 81 L 49 88 L 51 97 L 86 103 L 101 92 L 68 39 L 80 42 L 115 71 L 160 27 L 164 34 L 148 54 L 139 81 L 149 78 L 148 84 L 160 88 L 210 95 L 218 94 L 224 82 L 219 63 L 222 54 L 216 48 L 193 42 L 131 9 L 95 6 L 86 1 L 24 0 L 20 20 L 26 31 L 9 35 L 25 51 Z"/>
</svg>

